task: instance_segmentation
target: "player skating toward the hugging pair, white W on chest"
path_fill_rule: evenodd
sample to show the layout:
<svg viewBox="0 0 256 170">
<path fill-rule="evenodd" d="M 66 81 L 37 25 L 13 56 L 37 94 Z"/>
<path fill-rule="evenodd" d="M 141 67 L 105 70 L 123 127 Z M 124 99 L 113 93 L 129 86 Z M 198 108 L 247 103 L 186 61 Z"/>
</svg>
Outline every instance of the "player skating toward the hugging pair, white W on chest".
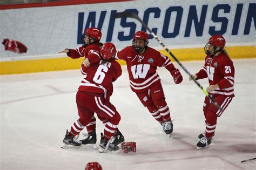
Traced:
<svg viewBox="0 0 256 170">
<path fill-rule="evenodd" d="M 168 57 L 147 46 L 148 43 L 149 35 L 144 31 L 138 31 L 133 36 L 132 45 L 118 51 L 116 58 L 126 61 L 132 91 L 170 137 L 173 123 L 157 67 L 165 67 L 170 71 L 176 84 L 181 83 L 183 77 Z"/>
</svg>

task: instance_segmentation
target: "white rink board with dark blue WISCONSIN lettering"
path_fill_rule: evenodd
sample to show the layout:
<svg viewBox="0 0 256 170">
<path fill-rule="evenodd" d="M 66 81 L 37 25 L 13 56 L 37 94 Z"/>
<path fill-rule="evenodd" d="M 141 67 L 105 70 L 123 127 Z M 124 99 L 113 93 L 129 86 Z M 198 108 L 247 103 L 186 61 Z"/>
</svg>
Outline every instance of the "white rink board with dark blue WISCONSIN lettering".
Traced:
<svg viewBox="0 0 256 170">
<path fill-rule="evenodd" d="M 201 47 L 213 34 L 223 35 L 227 46 L 255 45 L 254 8 L 255 1 L 245 0 L 144 0 L 0 10 L 0 39 L 15 39 L 28 46 L 22 55 L 1 47 L 0 57 L 57 55 L 80 46 L 80 36 L 91 26 L 102 30 L 103 43 L 112 42 L 122 49 L 131 45 L 134 32 L 142 30 L 135 19 L 111 17 L 125 10 L 149 21 L 149 27 L 171 49 Z M 161 49 L 156 40 L 149 45 Z"/>
</svg>

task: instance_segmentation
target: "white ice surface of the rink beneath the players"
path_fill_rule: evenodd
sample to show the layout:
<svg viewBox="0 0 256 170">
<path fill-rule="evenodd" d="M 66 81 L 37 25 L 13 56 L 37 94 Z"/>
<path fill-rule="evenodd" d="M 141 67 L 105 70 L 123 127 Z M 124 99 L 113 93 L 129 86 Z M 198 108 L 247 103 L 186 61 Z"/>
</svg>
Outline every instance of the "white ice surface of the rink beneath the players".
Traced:
<svg viewBox="0 0 256 170">
<path fill-rule="evenodd" d="M 198 134 L 205 131 L 204 93 L 183 73 L 175 85 L 170 73 L 158 68 L 174 131 L 171 138 L 140 103 L 129 86 L 126 66 L 114 83 L 111 103 L 122 119 L 125 141 L 136 141 L 136 153 L 99 153 L 103 124 L 97 119 L 97 149 L 62 149 L 66 129 L 78 119 L 75 96 L 79 70 L 0 76 L 0 169 L 84 169 L 97 161 L 103 169 L 256 169 L 256 59 L 233 59 L 235 97 L 218 119 L 207 149 L 197 150 Z M 191 73 L 204 61 L 183 62 Z M 207 79 L 199 80 L 207 87 Z M 84 130 L 83 132 L 86 132 Z M 79 138 L 83 138 L 80 135 Z"/>
</svg>

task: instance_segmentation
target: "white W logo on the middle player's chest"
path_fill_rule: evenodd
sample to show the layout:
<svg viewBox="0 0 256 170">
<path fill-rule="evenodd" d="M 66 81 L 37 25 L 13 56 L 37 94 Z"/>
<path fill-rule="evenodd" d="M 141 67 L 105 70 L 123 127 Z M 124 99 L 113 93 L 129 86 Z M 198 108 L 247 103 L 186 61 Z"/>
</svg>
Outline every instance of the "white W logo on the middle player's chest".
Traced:
<svg viewBox="0 0 256 170">
<path fill-rule="evenodd" d="M 132 76 L 133 76 L 134 79 L 145 78 L 149 69 L 150 69 L 149 64 L 133 65 L 131 67 Z"/>
</svg>

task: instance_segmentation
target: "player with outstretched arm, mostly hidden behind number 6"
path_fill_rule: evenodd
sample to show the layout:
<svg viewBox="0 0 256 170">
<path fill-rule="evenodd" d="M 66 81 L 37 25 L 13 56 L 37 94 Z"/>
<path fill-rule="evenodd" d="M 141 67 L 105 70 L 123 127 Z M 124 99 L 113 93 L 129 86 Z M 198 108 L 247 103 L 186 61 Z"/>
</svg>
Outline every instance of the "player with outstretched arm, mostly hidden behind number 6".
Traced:
<svg viewBox="0 0 256 170">
<path fill-rule="evenodd" d="M 66 53 L 70 58 L 76 59 L 80 57 L 84 57 L 84 66 L 89 66 L 89 64 L 98 63 L 100 61 L 100 46 L 103 44 L 100 43 L 100 39 L 102 37 L 102 32 L 100 32 L 97 28 L 87 28 L 84 31 L 84 44 L 77 49 L 65 49 L 59 53 Z M 81 67 L 80 71 L 82 74 L 86 74 L 84 71 L 86 68 Z M 109 98 L 112 94 L 112 83 L 111 88 L 107 91 L 107 98 Z M 106 123 L 106 120 L 100 115 L 97 115 L 103 123 Z M 95 144 L 96 143 L 96 118 L 92 115 L 92 119 L 90 124 L 86 126 L 87 129 L 87 140 L 83 140 L 83 144 Z M 93 137 L 93 138 L 92 138 Z M 90 139 L 90 140 L 89 140 Z"/>
</svg>

